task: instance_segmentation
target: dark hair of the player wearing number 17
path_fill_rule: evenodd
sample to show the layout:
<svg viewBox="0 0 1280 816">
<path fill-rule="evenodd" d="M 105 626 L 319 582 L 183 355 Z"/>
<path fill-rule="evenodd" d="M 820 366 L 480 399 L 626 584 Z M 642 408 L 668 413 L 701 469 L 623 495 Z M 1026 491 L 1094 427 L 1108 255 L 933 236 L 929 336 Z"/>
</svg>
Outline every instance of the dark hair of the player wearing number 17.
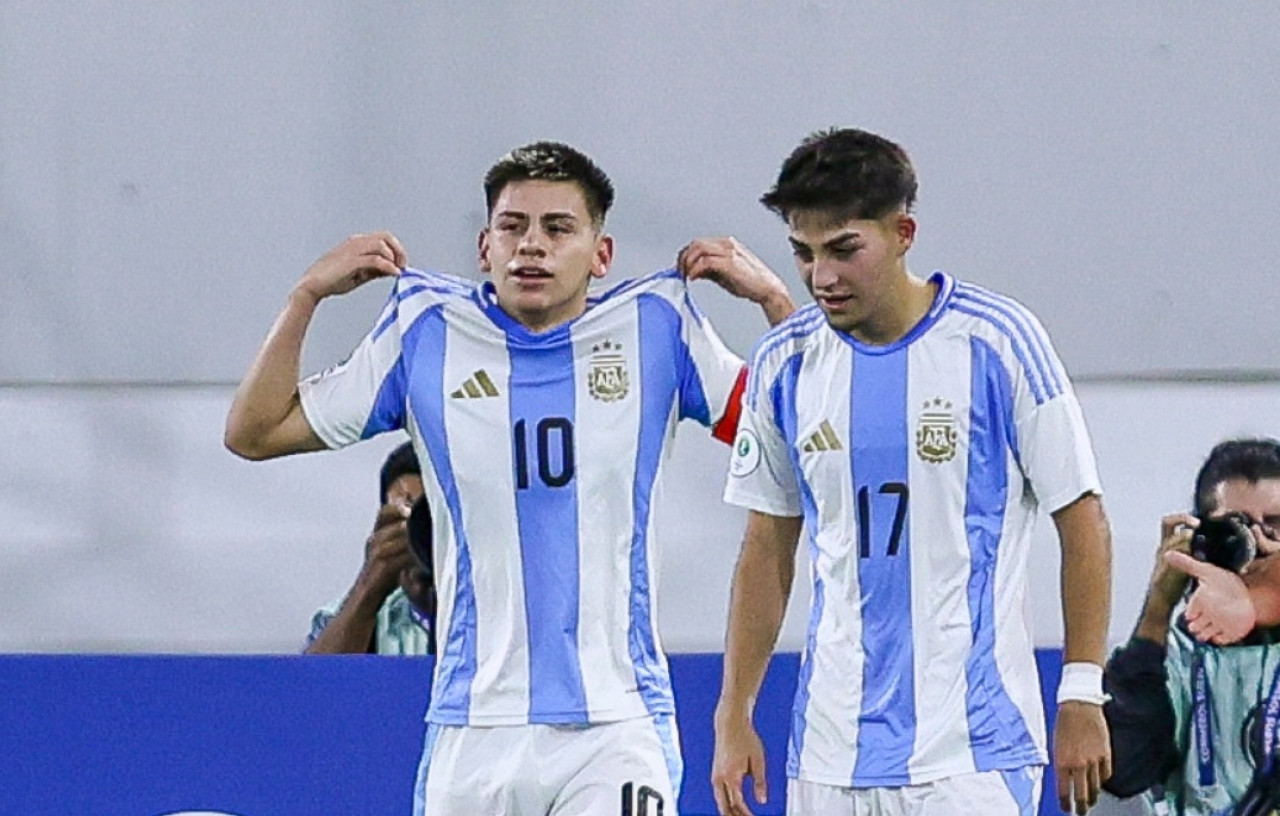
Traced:
<svg viewBox="0 0 1280 816">
<path fill-rule="evenodd" d="M 810 133 L 782 162 L 760 203 L 783 221 L 796 210 L 847 219 L 879 219 L 915 205 L 915 169 L 906 151 L 856 128 Z"/>
</svg>

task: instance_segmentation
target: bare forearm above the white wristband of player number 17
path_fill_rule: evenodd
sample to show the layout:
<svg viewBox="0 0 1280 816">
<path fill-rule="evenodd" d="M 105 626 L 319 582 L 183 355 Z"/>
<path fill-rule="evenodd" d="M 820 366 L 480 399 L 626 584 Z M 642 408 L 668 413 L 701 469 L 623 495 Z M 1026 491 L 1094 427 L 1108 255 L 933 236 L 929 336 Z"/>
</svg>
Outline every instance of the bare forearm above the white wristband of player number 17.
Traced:
<svg viewBox="0 0 1280 816">
<path fill-rule="evenodd" d="M 1111 528 L 1092 495 L 1053 519 L 1062 541 L 1062 660 L 1101 666 L 1111 618 Z"/>
</svg>

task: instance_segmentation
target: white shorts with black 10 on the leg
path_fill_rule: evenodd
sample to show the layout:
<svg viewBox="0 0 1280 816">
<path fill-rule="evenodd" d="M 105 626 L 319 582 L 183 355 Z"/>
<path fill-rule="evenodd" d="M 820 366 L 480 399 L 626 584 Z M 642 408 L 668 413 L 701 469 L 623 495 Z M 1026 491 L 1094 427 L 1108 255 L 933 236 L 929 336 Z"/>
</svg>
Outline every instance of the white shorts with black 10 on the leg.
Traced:
<svg viewBox="0 0 1280 816">
<path fill-rule="evenodd" d="M 599 725 L 426 725 L 413 816 L 676 816 L 669 715 Z"/>
</svg>

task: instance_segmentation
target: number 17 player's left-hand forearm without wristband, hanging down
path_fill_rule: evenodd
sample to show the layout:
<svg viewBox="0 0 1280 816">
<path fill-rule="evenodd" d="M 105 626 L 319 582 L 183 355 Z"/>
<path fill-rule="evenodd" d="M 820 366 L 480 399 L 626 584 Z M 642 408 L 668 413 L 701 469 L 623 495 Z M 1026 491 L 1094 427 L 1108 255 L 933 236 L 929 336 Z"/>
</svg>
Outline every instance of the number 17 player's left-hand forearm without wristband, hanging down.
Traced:
<svg viewBox="0 0 1280 816">
<path fill-rule="evenodd" d="M 733 574 L 717 716 L 750 716 L 773 654 L 795 573 L 794 558 L 744 545 Z"/>
</svg>

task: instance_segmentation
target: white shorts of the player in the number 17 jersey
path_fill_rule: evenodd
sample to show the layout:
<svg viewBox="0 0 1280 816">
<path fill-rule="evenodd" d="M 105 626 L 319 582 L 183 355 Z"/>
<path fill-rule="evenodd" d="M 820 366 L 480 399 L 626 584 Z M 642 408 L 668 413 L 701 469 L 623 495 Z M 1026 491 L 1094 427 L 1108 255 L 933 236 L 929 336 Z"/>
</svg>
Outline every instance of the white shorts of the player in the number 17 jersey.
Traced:
<svg viewBox="0 0 1280 816">
<path fill-rule="evenodd" d="M 1041 766 L 960 774 L 901 788 L 841 788 L 787 780 L 787 816 L 1036 816 Z"/>
</svg>

